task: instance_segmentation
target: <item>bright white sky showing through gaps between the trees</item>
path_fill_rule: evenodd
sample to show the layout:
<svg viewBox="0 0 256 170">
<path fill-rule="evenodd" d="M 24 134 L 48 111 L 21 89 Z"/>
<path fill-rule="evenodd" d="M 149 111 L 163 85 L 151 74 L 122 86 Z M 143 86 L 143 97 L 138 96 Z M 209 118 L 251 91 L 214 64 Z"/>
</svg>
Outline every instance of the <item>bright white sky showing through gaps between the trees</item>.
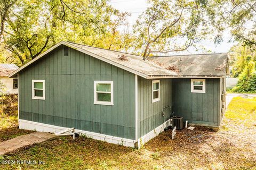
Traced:
<svg viewBox="0 0 256 170">
<path fill-rule="evenodd" d="M 111 0 L 110 4 L 122 11 L 122 12 L 130 12 L 131 16 L 128 18 L 128 22 L 130 25 L 134 24 L 134 22 L 137 20 L 138 16 L 146 10 L 147 8 L 147 1 L 146 0 Z M 226 31 L 223 34 L 223 42 L 220 45 L 215 45 L 213 41 L 206 40 L 200 43 L 199 45 L 204 46 L 207 50 L 211 50 L 212 53 L 226 53 L 230 49 L 231 46 L 234 45 L 234 43 L 228 43 L 228 40 L 230 39 L 230 33 Z M 183 53 L 196 53 L 195 50 L 189 50 L 189 52 L 183 52 Z M 201 52 L 202 53 L 202 52 Z"/>
</svg>

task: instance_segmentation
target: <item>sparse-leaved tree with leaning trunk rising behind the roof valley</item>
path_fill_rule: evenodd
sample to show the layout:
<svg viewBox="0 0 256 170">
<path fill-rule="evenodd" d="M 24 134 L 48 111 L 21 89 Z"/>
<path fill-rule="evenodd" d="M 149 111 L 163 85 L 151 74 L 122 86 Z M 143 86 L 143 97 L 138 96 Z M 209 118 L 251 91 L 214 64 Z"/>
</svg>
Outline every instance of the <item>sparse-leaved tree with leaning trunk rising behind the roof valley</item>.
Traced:
<svg viewBox="0 0 256 170">
<path fill-rule="evenodd" d="M 143 60 L 156 53 L 170 53 L 196 47 L 207 33 L 206 1 L 148 1 L 149 7 L 134 25 L 137 49 Z M 178 39 L 183 39 L 180 41 Z"/>
</svg>

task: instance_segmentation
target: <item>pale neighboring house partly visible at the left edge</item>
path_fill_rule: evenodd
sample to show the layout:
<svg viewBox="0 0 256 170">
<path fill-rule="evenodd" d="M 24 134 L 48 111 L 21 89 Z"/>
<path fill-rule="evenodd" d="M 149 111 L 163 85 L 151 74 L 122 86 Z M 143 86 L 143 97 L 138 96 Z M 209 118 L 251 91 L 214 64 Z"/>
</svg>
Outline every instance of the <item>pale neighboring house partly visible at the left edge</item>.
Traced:
<svg viewBox="0 0 256 170">
<path fill-rule="evenodd" d="M 0 64 L 0 81 L 4 84 L 6 94 L 18 94 L 18 78 L 9 78 L 8 75 L 19 69 L 15 64 Z"/>
</svg>

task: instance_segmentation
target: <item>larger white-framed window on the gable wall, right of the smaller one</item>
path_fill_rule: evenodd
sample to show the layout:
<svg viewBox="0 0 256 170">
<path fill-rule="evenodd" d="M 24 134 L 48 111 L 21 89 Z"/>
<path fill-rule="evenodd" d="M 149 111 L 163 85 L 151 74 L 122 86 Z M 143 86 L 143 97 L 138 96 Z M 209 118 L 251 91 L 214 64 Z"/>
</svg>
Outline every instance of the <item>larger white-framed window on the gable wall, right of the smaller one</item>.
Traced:
<svg viewBox="0 0 256 170">
<path fill-rule="evenodd" d="M 94 104 L 114 105 L 113 81 L 94 81 Z"/>
</svg>

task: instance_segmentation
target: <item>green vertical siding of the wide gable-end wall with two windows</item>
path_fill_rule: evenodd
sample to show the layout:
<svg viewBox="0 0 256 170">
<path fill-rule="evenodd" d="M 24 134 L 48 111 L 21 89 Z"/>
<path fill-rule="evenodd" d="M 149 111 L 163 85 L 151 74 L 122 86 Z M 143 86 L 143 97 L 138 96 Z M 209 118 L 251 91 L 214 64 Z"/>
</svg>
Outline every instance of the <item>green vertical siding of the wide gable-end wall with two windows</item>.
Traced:
<svg viewBox="0 0 256 170">
<path fill-rule="evenodd" d="M 45 80 L 45 100 L 32 99 L 31 80 Z M 94 105 L 95 80 L 114 81 L 114 106 Z M 135 75 L 63 47 L 19 73 L 23 120 L 135 139 Z"/>
</svg>

